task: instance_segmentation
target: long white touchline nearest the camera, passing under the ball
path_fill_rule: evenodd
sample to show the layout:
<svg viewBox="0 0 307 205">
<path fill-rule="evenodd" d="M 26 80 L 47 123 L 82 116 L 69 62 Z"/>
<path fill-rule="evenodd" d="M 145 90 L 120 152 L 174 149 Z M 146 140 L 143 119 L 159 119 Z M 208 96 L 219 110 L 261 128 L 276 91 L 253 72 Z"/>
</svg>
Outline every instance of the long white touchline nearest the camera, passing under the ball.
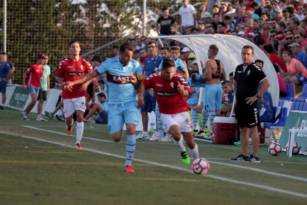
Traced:
<svg viewBox="0 0 307 205">
<path fill-rule="evenodd" d="M 53 142 L 53 141 L 49 141 L 49 140 L 43 140 L 43 139 L 39 139 L 39 138 L 36 138 L 36 137 L 30 137 L 30 136 L 25 136 L 25 135 L 18 135 L 18 134 L 7 133 L 7 132 L 2 132 L 2 131 L 0 131 L 0 133 L 4 133 L 4 134 L 8 134 L 8 135 L 14 135 L 14 136 L 20 136 L 20 137 L 24 137 L 24 138 L 28 138 L 28 139 L 33 139 L 33 140 L 37 140 L 37 141 L 42 141 L 42 142 L 57 144 L 57 145 L 61 145 L 61 146 L 66 146 L 66 147 L 69 147 L 69 148 L 74 148 L 71 145 L 62 144 L 62 143 L 59 143 L 59 142 Z M 103 154 L 103 155 L 107 155 L 107 156 L 113 156 L 113 157 L 117 157 L 117 158 L 121 158 L 121 159 L 126 159 L 126 156 L 115 155 L 115 154 L 111 154 L 109 152 L 102 152 L 102 151 L 88 149 L 88 148 L 83 148 L 83 150 L 90 151 L 90 152 L 95 152 L 95 153 Z M 167 164 L 160 164 L 160 163 L 156 163 L 156 162 L 152 162 L 152 161 L 147 161 L 147 160 L 139 160 L 139 159 L 133 159 L 133 160 L 134 161 L 138 161 L 138 162 L 143 162 L 143 163 L 146 163 L 146 164 L 153 164 L 153 165 L 157 165 L 157 166 L 161 166 L 161 167 L 167 167 L 167 168 L 172 168 L 172 169 L 176 169 L 176 170 L 180 170 L 180 171 L 185 171 L 185 172 L 188 172 L 188 173 L 193 173 L 193 171 L 191 169 L 175 167 L 175 166 L 171 166 L 171 165 L 167 165 Z M 276 191 L 276 192 L 280 192 L 280 193 L 284 193 L 284 194 L 289 194 L 289 195 L 294 195 L 294 196 L 300 196 L 300 197 L 307 198 L 307 194 L 296 193 L 296 192 L 293 192 L 293 191 L 286 191 L 286 190 L 277 189 L 277 188 L 274 188 L 274 187 L 264 186 L 264 185 L 260 185 L 260 184 L 242 182 L 242 181 L 237 181 L 237 180 L 234 180 L 234 179 L 228 179 L 228 178 L 225 178 L 225 177 L 220 177 L 220 176 L 215 176 L 215 175 L 200 175 L 200 176 L 207 176 L 207 177 L 211 177 L 213 179 L 218 179 L 218 180 L 222 180 L 222 181 L 226 181 L 226 182 L 243 184 L 243 185 L 247 185 L 247 186 L 252 186 L 252 187 L 258 187 L 258 188 L 266 189 L 266 190 L 269 190 L 269 191 Z"/>
</svg>

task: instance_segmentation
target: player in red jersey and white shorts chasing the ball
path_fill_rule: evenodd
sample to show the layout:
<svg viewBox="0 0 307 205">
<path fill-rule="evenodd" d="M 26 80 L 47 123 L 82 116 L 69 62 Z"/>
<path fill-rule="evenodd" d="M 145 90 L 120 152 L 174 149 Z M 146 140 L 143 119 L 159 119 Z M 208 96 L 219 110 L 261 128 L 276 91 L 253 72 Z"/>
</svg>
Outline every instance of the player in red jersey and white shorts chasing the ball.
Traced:
<svg viewBox="0 0 307 205">
<path fill-rule="evenodd" d="M 144 86 L 145 89 L 153 88 L 156 92 L 162 124 L 173 136 L 173 142 L 181 152 L 183 164 L 190 164 L 190 158 L 183 145 L 181 134 L 193 159 L 199 158 L 198 146 L 193 140 L 193 124 L 188 112 L 188 103 L 185 100 L 191 90 L 185 79 L 175 74 L 175 61 L 165 59 L 161 72 L 148 76 L 144 80 Z"/>
</svg>

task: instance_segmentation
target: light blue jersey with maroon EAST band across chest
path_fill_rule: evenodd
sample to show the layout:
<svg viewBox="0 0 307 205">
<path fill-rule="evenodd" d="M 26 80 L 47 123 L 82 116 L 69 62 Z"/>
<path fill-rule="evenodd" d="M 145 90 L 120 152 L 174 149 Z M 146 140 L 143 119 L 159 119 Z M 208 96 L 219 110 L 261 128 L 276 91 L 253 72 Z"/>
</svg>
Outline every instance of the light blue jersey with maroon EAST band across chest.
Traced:
<svg viewBox="0 0 307 205">
<path fill-rule="evenodd" d="M 95 72 L 99 75 L 107 73 L 108 104 L 137 101 L 134 85 L 130 83 L 129 76 L 135 73 L 139 81 L 143 79 L 142 67 L 138 61 L 132 59 L 125 66 L 119 61 L 119 56 L 109 58 Z"/>
</svg>

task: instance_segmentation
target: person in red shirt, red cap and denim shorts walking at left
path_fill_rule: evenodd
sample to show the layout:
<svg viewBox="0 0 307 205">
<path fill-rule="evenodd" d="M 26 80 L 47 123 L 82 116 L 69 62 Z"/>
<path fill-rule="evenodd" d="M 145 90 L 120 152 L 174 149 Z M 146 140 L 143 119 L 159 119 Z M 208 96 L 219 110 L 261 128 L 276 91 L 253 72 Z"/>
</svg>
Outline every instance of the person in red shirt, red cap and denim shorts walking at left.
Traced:
<svg viewBox="0 0 307 205">
<path fill-rule="evenodd" d="M 25 78 L 28 75 L 27 88 L 29 89 L 31 102 L 27 105 L 24 111 L 21 112 L 21 120 L 28 120 L 27 115 L 34 107 L 38 92 L 41 87 L 41 76 L 43 75 L 44 68 L 41 66 L 44 64 L 46 56 L 43 53 L 38 54 L 37 62 L 31 65 L 24 73 L 22 77 L 22 89 L 25 89 Z"/>
</svg>

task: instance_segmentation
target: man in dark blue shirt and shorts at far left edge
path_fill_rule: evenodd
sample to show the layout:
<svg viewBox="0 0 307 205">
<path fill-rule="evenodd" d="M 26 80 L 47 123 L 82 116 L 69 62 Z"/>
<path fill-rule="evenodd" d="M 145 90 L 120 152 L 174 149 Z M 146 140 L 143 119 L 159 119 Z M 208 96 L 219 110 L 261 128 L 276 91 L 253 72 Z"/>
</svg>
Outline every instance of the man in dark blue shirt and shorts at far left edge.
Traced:
<svg viewBox="0 0 307 205">
<path fill-rule="evenodd" d="M 2 104 L 0 109 L 4 109 L 4 104 L 6 101 L 6 86 L 7 79 L 9 79 L 13 74 L 13 70 L 10 65 L 5 62 L 4 54 L 0 54 L 0 92 L 2 93 Z"/>
</svg>

